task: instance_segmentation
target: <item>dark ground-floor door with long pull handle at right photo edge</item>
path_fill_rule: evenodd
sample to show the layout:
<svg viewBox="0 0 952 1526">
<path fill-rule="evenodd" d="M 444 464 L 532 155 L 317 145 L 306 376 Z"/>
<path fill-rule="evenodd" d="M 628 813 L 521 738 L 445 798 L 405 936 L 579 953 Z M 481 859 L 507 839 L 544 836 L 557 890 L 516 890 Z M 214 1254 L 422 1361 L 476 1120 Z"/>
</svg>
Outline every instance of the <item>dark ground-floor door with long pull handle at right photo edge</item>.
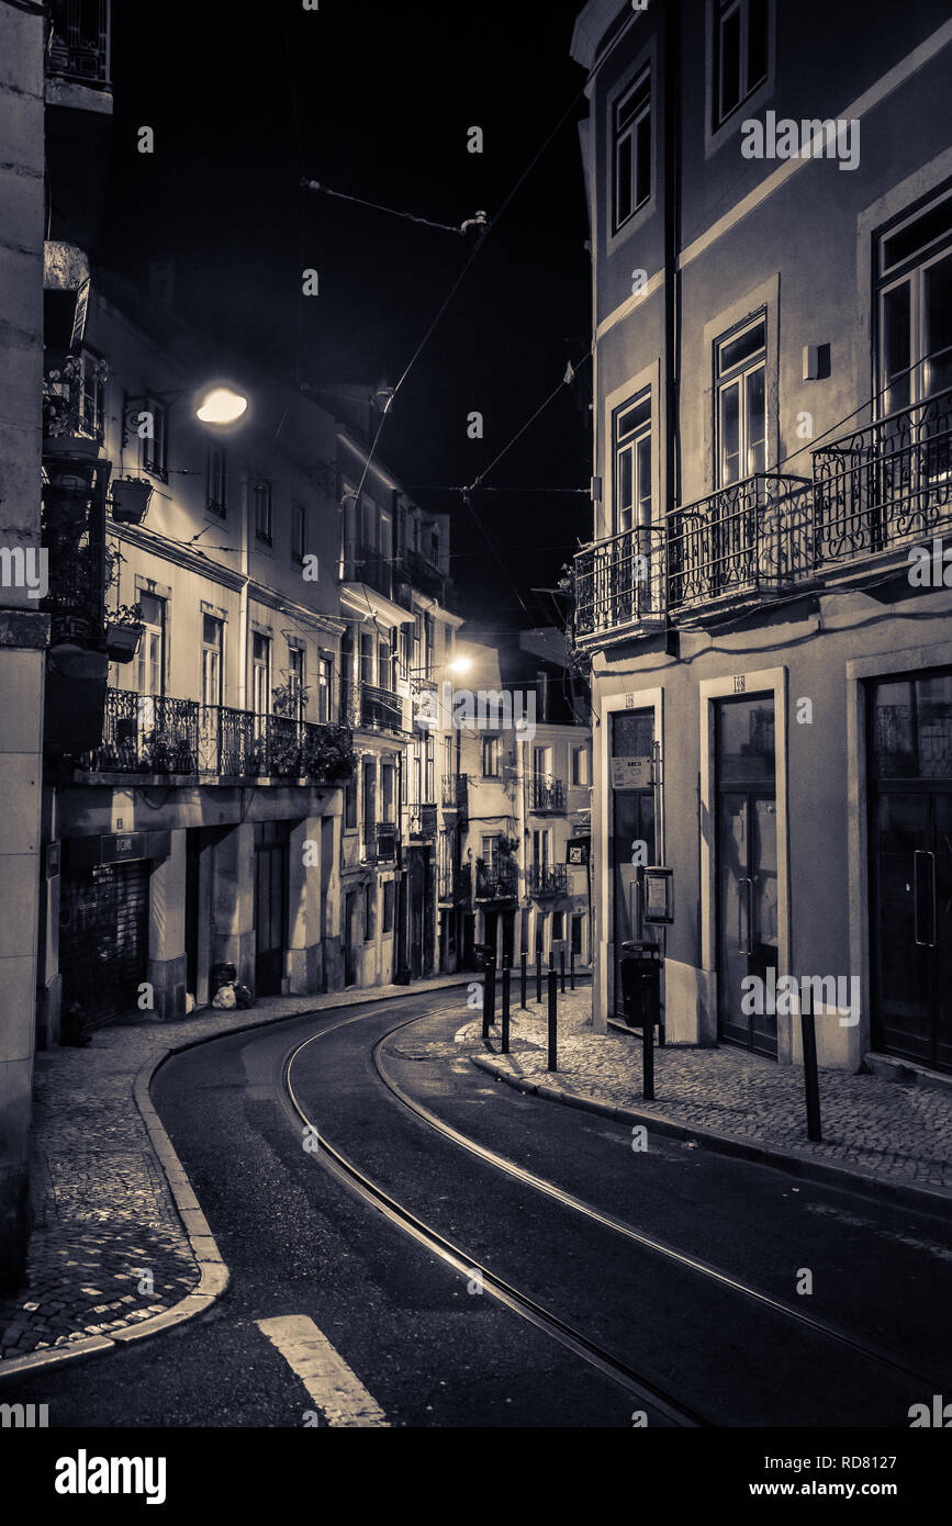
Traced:
<svg viewBox="0 0 952 1526">
<path fill-rule="evenodd" d="M 873 1047 L 952 1073 L 952 671 L 870 697 Z"/>
</svg>

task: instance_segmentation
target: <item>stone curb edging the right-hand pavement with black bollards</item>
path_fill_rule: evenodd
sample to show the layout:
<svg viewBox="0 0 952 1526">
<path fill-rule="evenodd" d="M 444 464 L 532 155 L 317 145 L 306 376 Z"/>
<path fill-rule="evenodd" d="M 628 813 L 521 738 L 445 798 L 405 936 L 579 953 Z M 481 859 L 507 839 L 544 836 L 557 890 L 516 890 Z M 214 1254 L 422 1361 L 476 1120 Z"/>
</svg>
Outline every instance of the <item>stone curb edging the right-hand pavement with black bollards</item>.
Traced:
<svg viewBox="0 0 952 1526">
<path fill-rule="evenodd" d="M 616 1108 L 610 1102 L 589 1097 L 578 1091 L 563 1091 L 557 1087 L 543 1085 L 534 1080 L 523 1080 L 502 1070 L 481 1054 L 470 1056 L 478 1070 L 484 1070 L 494 1080 L 505 1082 L 514 1091 L 526 1096 L 545 1097 L 546 1102 L 561 1102 L 566 1108 L 578 1108 L 583 1112 L 598 1112 L 601 1117 L 613 1119 L 616 1123 L 639 1123 L 648 1131 L 665 1138 L 674 1138 L 700 1144 L 719 1155 L 734 1155 L 737 1160 L 749 1160 L 757 1166 L 774 1166 L 790 1177 L 801 1177 L 816 1181 L 825 1187 L 839 1187 L 845 1192 L 857 1192 L 865 1198 L 879 1198 L 886 1202 L 902 1204 L 909 1209 L 920 1209 L 926 1213 L 937 1213 L 941 1218 L 952 1215 L 952 1189 L 923 1187 L 915 1181 L 894 1177 L 877 1177 L 851 1170 L 848 1166 L 830 1166 L 827 1161 L 815 1160 L 801 1151 L 780 1151 L 769 1144 L 751 1144 L 746 1140 L 732 1138 L 729 1134 L 717 1134 L 697 1125 L 677 1123 L 664 1114 L 636 1112 L 635 1108 Z"/>
</svg>

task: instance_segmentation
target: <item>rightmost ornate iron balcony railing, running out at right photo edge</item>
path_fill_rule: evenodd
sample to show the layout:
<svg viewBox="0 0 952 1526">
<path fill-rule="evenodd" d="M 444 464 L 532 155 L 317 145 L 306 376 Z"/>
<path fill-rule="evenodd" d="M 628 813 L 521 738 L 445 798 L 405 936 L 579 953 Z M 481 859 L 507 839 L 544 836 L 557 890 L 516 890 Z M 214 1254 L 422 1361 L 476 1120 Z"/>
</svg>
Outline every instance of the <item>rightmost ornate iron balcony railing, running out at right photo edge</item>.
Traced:
<svg viewBox="0 0 952 1526">
<path fill-rule="evenodd" d="M 813 452 L 818 568 L 952 525 L 952 389 Z"/>
</svg>

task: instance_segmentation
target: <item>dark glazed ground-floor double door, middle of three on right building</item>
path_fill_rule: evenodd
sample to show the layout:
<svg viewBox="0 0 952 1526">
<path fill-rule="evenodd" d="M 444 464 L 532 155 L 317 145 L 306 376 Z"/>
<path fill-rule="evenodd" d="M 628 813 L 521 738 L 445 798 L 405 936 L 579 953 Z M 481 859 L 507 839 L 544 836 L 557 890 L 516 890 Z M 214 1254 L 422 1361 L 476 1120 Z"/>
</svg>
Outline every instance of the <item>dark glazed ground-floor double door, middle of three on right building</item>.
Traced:
<svg viewBox="0 0 952 1526">
<path fill-rule="evenodd" d="M 767 1012 L 777 972 L 777 784 L 774 699 L 722 699 L 716 707 L 717 1025 L 719 1036 L 777 1059 L 777 1015 Z M 746 1001 L 749 977 L 760 1001 Z M 775 987 L 774 987 L 775 989 Z M 743 1007 L 754 1007 L 745 1012 Z"/>
</svg>

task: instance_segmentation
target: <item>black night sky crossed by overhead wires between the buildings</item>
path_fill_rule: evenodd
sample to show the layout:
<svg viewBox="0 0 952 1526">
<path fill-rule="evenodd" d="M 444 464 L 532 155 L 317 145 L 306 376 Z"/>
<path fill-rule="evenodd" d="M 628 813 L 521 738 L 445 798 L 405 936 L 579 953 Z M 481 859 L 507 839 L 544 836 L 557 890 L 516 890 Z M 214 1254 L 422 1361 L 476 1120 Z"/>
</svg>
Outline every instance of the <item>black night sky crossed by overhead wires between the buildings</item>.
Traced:
<svg viewBox="0 0 952 1526">
<path fill-rule="evenodd" d="M 288 382 L 394 386 L 479 233 L 459 237 L 302 191 L 301 177 L 436 223 L 490 220 L 389 414 L 380 456 L 416 502 L 452 514 L 458 607 L 552 620 L 552 586 L 590 536 L 586 359 L 476 493 L 496 555 L 458 493 L 587 356 L 590 266 L 569 58 L 577 3 L 117 5 L 105 264 L 145 281 L 172 258 L 183 316 Z M 148 17 L 151 15 L 151 21 Z M 156 134 L 139 154 L 137 128 Z M 485 134 L 467 153 L 467 128 Z M 314 267 L 320 296 L 301 295 Z M 485 438 L 467 438 L 481 410 Z M 502 563 L 502 565 L 500 565 Z M 508 581 L 511 578 L 511 583 Z M 525 609 L 522 607 L 514 584 Z"/>
</svg>

